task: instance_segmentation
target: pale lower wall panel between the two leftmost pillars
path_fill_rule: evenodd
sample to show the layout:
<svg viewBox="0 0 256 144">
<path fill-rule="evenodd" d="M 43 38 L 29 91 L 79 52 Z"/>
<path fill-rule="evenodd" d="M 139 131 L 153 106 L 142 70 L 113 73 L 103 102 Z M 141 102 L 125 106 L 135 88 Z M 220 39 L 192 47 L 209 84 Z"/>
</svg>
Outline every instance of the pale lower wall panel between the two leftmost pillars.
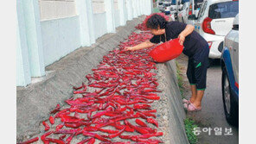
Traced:
<svg viewBox="0 0 256 144">
<path fill-rule="evenodd" d="M 44 65 L 48 66 L 80 47 L 79 17 L 41 22 Z"/>
</svg>

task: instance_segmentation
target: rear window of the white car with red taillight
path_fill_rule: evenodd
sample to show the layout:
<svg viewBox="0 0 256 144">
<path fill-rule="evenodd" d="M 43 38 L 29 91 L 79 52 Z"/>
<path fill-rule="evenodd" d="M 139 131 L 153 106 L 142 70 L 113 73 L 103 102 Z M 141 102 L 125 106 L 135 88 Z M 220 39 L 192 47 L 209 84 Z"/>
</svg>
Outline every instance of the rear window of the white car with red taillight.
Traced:
<svg viewBox="0 0 256 144">
<path fill-rule="evenodd" d="M 239 2 L 214 3 L 209 7 L 209 17 L 212 19 L 235 17 L 239 12 Z"/>
</svg>

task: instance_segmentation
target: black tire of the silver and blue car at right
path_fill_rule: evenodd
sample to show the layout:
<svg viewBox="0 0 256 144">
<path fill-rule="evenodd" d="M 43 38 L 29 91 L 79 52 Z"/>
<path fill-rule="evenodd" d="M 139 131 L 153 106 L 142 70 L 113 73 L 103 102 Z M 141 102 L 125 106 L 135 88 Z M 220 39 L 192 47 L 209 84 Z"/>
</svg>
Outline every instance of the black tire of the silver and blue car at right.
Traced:
<svg viewBox="0 0 256 144">
<path fill-rule="evenodd" d="M 222 78 L 221 78 L 221 87 L 222 87 L 222 100 L 223 107 L 226 116 L 226 120 L 229 124 L 233 126 L 238 126 L 239 124 L 239 110 L 238 106 L 235 103 L 234 96 L 230 89 L 230 82 L 227 76 L 227 70 L 224 67 L 222 70 Z"/>
</svg>

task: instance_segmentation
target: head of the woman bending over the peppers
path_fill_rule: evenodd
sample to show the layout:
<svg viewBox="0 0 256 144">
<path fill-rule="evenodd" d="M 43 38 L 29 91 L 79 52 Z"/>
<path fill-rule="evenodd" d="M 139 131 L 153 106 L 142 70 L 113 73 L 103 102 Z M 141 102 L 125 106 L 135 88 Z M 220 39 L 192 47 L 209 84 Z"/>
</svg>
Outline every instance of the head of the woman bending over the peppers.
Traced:
<svg viewBox="0 0 256 144">
<path fill-rule="evenodd" d="M 165 33 L 166 23 L 167 21 L 163 16 L 155 14 L 148 19 L 146 26 L 150 29 L 152 34 L 161 35 Z"/>
</svg>

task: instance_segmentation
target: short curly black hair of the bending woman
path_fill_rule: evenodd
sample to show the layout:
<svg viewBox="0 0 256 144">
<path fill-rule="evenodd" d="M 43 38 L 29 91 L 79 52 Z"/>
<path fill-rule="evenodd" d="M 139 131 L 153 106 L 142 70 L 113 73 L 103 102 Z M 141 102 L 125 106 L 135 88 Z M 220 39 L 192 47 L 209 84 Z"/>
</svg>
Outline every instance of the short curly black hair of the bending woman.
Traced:
<svg viewBox="0 0 256 144">
<path fill-rule="evenodd" d="M 149 20 L 146 22 L 146 26 L 150 29 L 158 29 L 158 27 L 163 29 L 165 28 L 166 23 L 167 21 L 163 16 L 155 14 L 149 18 Z"/>
</svg>

